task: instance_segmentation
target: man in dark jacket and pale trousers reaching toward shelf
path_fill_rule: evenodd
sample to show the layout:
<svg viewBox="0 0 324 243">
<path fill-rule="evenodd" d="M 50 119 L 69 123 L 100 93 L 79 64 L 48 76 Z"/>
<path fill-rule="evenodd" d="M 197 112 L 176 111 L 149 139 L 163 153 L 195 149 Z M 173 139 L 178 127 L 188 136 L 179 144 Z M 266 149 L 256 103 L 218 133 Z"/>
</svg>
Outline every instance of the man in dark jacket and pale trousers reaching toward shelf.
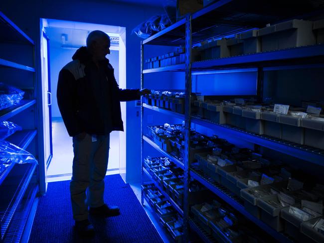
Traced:
<svg viewBox="0 0 324 243">
<path fill-rule="evenodd" d="M 70 182 L 75 229 L 93 236 L 88 214 L 119 215 L 117 206 L 104 203 L 104 177 L 109 155 L 109 134 L 123 130 L 121 101 L 138 100 L 149 90 L 119 89 L 114 69 L 106 58 L 110 38 L 100 31 L 87 37 L 87 47 L 79 48 L 59 73 L 57 103 L 64 124 L 73 137 L 73 172 Z M 90 207 L 88 211 L 88 206 Z"/>
</svg>

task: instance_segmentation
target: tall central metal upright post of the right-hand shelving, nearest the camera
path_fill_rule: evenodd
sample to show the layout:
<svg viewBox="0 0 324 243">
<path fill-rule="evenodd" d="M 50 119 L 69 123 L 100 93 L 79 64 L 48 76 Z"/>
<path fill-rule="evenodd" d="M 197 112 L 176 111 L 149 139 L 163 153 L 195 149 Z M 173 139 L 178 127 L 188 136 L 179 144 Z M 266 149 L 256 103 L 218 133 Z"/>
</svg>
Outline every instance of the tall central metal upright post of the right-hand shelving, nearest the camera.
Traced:
<svg viewBox="0 0 324 243">
<path fill-rule="evenodd" d="M 184 141 L 184 195 L 183 195 L 183 237 L 189 242 L 189 161 L 190 161 L 190 113 L 191 113 L 191 14 L 185 22 L 185 141 Z"/>
</svg>

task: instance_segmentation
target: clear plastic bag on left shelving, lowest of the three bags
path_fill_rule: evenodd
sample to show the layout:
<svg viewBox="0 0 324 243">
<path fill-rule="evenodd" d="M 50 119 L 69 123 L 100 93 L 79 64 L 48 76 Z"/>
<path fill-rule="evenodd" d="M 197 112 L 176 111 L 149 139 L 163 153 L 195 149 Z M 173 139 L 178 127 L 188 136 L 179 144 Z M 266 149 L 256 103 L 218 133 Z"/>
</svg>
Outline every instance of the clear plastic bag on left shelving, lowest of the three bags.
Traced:
<svg viewBox="0 0 324 243">
<path fill-rule="evenodd" d="M 22 148 L 7 142 L 0 141 L 0 164 L 24 164 L 24 163 L 36 163 L 37 160 L 34 156 Z"/>
</svg>

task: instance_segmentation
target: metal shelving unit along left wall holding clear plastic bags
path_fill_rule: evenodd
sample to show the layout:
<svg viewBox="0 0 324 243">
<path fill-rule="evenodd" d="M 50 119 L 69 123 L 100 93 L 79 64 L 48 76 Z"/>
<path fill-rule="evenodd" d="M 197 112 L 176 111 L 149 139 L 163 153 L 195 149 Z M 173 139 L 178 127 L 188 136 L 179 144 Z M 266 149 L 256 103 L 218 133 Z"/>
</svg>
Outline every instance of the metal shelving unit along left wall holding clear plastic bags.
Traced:
<svg viewBox="0 0 324 243">
<path fill-rule="evenodd" d="M 18 83 L 20 89 L 36 90 L 36 72 L 33 67 L 35 44 L 2 12 L 0 12 L 0 42 L 0 71 L 1 75 L 5 76 L 5 79 L 3 78 L 1 81 L 8 85 Z M 15 47 L 16 52 L 6 51 L 7 47 L 8 50 Z M 28 66 L 23 65 L 24 62 Z M 16 80 L 15 72 L 23 78 Z M 34 139 L 37 134 L 38 117 L 35 93 L 32 93 L 28 99 L 23 99 L 18 104 L 0 111 L 0 122 L 12 119 L 13 122 L 20 125 L 23 130 L 16 131 L 5 139 L 22 149 L 30 148 L 32 155 L 37 158 L 38 146 L 29 146 L 31 143 L 37 143 L 37 140 Z M 36 194 L 39 192 L 38 182 L 31 183 L 37 167 L 36 163 L 16 164 L 12 162 L 1 172 L 0 242 L 18 243 L 23 241 L 21 237 L 27 223 L 33 218 L 35 213 L 33 204 Z M 28 223 L 28 225 L 30 229 L 31 224 Z M 29 229 L 26 231 L 29 232 Z"/>
</svg>

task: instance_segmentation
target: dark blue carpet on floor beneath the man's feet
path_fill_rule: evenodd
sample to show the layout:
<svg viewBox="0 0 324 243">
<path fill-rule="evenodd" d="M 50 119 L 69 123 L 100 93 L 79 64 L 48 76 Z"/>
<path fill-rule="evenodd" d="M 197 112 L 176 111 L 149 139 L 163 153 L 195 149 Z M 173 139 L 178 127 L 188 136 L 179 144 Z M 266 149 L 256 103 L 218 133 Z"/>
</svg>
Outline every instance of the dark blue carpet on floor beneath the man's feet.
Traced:
<svg viewBox="0 0 324 243">
<path fill-rule="evenodd" d="M 120 175 L 106 176 L 104 197 L 108 205 L 120 207 L 121 215 L 91 217 L 95 238 L 80 238 L 73 229 L 69 183 L 48 183 L 47 193 L 37 207 L 29 243 L 162 243 L 132 188 Z"/>
</svg>

